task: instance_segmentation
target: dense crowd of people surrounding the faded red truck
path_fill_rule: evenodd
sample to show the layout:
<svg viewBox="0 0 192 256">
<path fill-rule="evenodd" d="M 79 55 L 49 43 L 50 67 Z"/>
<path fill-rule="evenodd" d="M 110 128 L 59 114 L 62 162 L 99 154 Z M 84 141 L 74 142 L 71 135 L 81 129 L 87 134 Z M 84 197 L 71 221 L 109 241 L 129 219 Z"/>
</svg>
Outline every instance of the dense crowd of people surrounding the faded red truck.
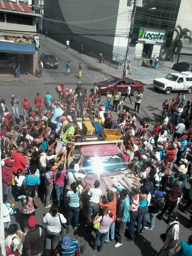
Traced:
<svg viewBox="0 0 192 256">
<path fill-rule="evenodd" d="M 126 96 L 134 104 L 129 87 Z M 65 89 L 60 83 L 57 100 L 49 92 L 43 99 L 37 93 L 34 104 L 24 97 L 21 102 L 24 123 L 18 111 L 20 99 L 11 95 L 10 113 L 6 99 L 0 97 L 7 256 L 21 255 L 24 248 L 27 256 L 43 253 L 80 255 L 80 245 L 69 237 L 69 230 L 71 227 L 78 230 L 81 222 L 96 231 L 93 250 L 101 253 L 104 243 L 115 239 L 115 228 L 118 241 L 114 246 L 118 248 L 124 242 L 127 227 L 129 236 L 126 241 L 131 242 L 139 233 L 153 230 L 155 217 L 162 220 L 164 215 L 168 217 L 167 228 L 166 233 L 161 234 L 164 244 L 159 255 L 169 255 L 172 248 L 178 256 L 192 254 L 191 236 L 189 241 L 179 244 L 178 215 L 182 197 L 187 200 L 182 211 L 190 214 L 192 207 L 191 104 L 189 101 L 185 103 L 184 93 L 178 94 L 170 104 L 168 100 L 163 102 L 161 119 L 154 126 L 142 118 L 138 125 L 135 112 L 137 108 L 139 113 L 142 93 L 139 91 L 135 97 L 134 111 L 124 105 L 126 96 L 122 100 L 121 91 L 114 95 L 108 93 L 105 103 L 101 102 L 97 83 L 90 94 L 80 81 L 75 91 Z M 116 120 L 112 115 L 114 107 L 118 115 Z M 87 117 L 100 120 L 106 129 L 121 132 L 123 142 L 118 146 L 129 170 L 121 175 L 124 186 L 111 184 L 103 191 L 100 177 L 95 179 L 94 187 L 90 183 L 81 185 L 82 179 L 87 177 L 81 165 L 83 150 L 75 157 L 73 151 L 75 143 L 82 137 L 79 132 L 83 129 L 81 121 Z M 189 190 L 185 187 L 187 182 Z M 22 230 L 11 224 L 10 216 L 15 214 L 15 203 L 11 203 L 13 197 L 16 203 L 22 203 Z M 45 229 L 36 223 L 38 197 L 49 209 L 42 218 Z M 147 214 L 150 216 L 148 225 Z M 192 218 L 189 228 L 192 230 Z"/>
</svg>

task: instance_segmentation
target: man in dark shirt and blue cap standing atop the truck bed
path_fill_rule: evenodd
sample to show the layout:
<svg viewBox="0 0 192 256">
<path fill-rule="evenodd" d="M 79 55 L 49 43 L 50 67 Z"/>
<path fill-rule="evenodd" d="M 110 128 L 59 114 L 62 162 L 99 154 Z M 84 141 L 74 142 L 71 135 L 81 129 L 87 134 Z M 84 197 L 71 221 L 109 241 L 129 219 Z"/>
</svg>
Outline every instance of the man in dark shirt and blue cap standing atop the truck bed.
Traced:
<svg viewBox="0 0 192 256">
<path fill-rule="evenodd" d="M 79 107 L 81 108 L 81 115 L 83 117 L 83 110 L 85 106 L 85 97 L 88 105 L 88 96 L 87 96 L 87 89 L 82 85 L 81 81 L 77 82 L 77 88 L 75 89 L 74 95 L 77 95 L 75 100 L 75 112 L 74 115 L 77 117 L 77 111 Z"/>
</svg>

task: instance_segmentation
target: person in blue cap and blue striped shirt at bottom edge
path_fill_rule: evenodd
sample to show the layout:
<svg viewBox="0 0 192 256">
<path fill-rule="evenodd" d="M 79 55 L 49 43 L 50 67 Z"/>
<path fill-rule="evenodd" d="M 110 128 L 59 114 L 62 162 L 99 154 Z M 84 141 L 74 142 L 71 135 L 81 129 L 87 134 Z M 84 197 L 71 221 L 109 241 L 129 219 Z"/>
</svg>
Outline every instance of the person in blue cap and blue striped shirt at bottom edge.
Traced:
<svg viewBox="0 0 192 256">
<path fill-rule="evenodd" d="M 80 255 L 80 247 L 81 246 L 76 239 L 65 235 L 56 246 L 56 256 L 75 256 L 75 251 L 78 251 Z"/>
</svg>

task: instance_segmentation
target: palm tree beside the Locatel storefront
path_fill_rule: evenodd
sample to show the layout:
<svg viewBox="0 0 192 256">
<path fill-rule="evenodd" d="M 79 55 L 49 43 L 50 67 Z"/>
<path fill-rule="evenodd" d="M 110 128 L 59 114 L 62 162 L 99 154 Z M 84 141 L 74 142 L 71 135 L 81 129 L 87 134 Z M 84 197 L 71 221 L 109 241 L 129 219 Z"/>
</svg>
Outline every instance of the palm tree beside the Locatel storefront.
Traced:
<svg viewBox="0 0 192 256">
<path fill-rule="evenodd" d="M 173 31 L 176 32 L 176 37 L 173 40 L 173 54 L 172 54 L 171 60 L 173 59 L 173 56 L 175 54 L 180 53 L 183 47 L 183 42 L 185 40 L 189 40 L 189 42 L 192 41 L 192 38 L 190 37 L 191 31 L 186 27 L 182 29 L 180 25 L 177 25 Z"/>
</svg>

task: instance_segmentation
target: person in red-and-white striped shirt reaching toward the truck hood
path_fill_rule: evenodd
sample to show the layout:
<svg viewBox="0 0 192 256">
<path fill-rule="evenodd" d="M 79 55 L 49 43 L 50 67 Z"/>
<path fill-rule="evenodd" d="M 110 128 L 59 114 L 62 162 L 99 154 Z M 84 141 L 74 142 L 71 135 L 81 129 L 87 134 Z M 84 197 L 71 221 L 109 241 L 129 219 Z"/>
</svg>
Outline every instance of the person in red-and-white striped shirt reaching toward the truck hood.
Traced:
<svg viewBox="0 0 192 256">
<path fill-rule="evenodd" d="M 129 182 L 126 181 L 125 178 L 122 178 L 123 181 L 126 183 L 128 188 L 131 190 L 131 199 L 130 199 L 130 221 L 129 221 L 129 235 L 130 238 L 127 238 L 126 241 L 131 242 L 135 240 L 135 220 L 138 215 L 138 207 L 139 207 L 139 189 L 137 187 L 131 187 Z"/>
</svg>

